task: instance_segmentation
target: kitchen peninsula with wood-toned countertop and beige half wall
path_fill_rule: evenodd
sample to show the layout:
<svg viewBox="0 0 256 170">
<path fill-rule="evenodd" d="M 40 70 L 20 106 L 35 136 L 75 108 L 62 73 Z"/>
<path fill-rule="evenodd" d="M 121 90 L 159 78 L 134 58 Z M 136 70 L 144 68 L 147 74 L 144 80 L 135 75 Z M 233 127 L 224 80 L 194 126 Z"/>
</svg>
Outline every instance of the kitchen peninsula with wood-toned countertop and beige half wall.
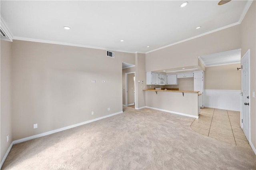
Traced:
<svg viewBox="0 0 256 170">
<path fill-rule="evenodd" d="M 144 89 L 146 107 L 198 119 L 199 91 Z"/>
</svg>

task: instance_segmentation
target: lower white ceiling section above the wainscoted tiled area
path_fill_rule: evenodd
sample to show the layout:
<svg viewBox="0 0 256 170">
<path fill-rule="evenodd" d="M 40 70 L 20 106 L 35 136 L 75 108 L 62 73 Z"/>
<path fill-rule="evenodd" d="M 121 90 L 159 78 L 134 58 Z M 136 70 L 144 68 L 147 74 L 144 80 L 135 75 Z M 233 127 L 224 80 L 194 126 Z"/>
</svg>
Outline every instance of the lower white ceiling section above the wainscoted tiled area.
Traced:
<svg viewBox="0 0 256 170">
<path fill-rule="evenodd" d="M 200 60 L 206 66 L 226 65 L 241 62 L 241 49 L 224 51 L 210 55 L 200 56 Z"/>
</svg>

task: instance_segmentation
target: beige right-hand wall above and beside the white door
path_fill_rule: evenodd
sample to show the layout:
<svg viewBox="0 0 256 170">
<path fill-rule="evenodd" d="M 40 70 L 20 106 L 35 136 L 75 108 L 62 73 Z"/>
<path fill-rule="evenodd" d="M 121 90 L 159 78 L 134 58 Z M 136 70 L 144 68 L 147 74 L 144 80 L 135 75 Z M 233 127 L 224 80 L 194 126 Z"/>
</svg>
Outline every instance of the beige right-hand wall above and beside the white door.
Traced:
<svg viewBox="0 0 256 170">
<path fill-rule="evenodd" d="M 256 91 L 256 2 L 250 6 L 241 23 L 241 56 L 250 49 L 250 96 Z M 251 142 L 256 148 L 256 100 L 250 97 Z"/>
</svg>

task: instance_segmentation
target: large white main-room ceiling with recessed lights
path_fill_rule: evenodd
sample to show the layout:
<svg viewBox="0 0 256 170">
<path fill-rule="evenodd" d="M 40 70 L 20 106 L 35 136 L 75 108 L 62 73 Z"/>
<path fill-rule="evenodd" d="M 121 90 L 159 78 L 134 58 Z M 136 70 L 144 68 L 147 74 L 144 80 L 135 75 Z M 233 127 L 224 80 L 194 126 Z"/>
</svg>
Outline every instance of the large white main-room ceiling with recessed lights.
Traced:
<svg viewBox="0 0 256 170">
<path fill-rule="evenodd" d="M 6 1 L 1 20 L 14 40 L 146 53 L 239 24 L 251 2 Z M 64 30 L 63 26 L 71 27 Z M 195 29 L 202 26 L 200 29 Z M 120 42 L 124 40 L 124 42 Z M 150 47 L 147 47 L 150 46 Z"/>
</svg>

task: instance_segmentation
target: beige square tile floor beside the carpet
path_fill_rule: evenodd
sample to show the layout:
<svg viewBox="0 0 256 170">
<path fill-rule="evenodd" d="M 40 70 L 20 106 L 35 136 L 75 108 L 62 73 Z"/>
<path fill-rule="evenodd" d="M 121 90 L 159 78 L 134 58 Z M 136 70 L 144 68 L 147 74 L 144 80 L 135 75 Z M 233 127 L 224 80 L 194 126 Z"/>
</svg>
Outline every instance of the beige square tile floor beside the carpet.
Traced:
<svg viewBox="0 0 256 170">
<path fill-rule="evenodd" d="M 240 112 L 238 111 L 201 109 L 199 119 L 194 120 L 191 128 L 205 136 L 252 149 L 242 128 L 240 128 Z"/>
</svg>

